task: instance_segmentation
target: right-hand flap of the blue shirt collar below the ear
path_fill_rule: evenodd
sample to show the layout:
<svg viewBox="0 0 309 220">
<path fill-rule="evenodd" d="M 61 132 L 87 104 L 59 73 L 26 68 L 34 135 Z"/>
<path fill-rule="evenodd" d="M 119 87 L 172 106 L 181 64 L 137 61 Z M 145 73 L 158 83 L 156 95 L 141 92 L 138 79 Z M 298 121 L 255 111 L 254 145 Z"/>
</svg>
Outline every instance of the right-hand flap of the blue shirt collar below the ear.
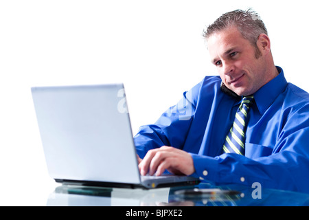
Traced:
<svg viewBox="0 0 309 220">
<path fill-rule="evenodd" d="M 283 69 L 277 67 L 277 70 L 279 75 L 253 94 L 255 103 L 261 115 L 271 106 L 271 104 L 273 104 L 275 98 L 277 98 L 279 94 L 282 94 L 288 85 L 286 78 L 284 77 Z"/>
</svg>

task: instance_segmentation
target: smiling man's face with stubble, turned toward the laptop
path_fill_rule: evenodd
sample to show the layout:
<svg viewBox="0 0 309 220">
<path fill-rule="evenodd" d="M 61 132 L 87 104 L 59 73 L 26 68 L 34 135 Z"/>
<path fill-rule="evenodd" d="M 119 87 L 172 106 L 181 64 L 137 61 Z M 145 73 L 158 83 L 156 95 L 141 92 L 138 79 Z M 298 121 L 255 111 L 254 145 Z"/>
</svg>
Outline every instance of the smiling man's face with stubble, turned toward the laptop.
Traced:
<svg viewBox="0 0 309 220">
<path fill-rule="evenodd" d="M 255 47 L 237 28 L 209 36 L 208 50 L 223 83 L 238 96 L 249 96 L 267 83 L 263 54 L 257 58 Z"/>
</svg>

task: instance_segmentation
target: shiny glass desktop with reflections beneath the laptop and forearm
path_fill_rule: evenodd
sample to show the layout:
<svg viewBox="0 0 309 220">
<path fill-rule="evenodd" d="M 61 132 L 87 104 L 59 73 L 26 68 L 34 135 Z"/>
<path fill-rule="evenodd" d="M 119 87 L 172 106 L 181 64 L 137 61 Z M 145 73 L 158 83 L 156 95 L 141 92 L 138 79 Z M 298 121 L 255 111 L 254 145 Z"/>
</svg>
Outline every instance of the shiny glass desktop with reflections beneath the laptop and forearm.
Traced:
<svg viewBox="0 0 309 220">
<path fill-rule="evenodd" d="M 194 188 L 214 189 L 215 193 L 179 193 Z M 199 184 L 151 190 L 62 185 L 49 195 L 47 206 L 309 206 L 309 194 L 265 188 L 256 192 L 255 188 L 239 185 Z"/>
</svg>

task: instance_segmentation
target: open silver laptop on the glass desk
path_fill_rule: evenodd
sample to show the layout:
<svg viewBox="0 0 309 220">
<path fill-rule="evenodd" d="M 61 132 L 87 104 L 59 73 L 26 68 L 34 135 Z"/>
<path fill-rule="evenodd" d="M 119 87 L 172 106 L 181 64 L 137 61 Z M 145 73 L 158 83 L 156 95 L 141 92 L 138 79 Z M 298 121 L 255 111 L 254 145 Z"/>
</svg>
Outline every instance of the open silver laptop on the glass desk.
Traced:
<svg viewBox="0 0 309 220">
<path fill-rule="evenodd" d="M 141 176 L 124 85 L 32 87 L 49 175 L 62 184 L 157 188 L 198 184 Z"/>
</svg>

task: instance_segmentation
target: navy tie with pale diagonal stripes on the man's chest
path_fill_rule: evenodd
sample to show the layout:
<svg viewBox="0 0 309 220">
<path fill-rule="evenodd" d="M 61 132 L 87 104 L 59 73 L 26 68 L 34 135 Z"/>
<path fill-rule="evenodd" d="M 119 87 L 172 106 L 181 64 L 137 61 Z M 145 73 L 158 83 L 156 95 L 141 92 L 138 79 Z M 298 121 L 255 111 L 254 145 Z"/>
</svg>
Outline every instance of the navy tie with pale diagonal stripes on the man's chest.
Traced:
<svg viewBox="0 0 309 220">
<path fill-rule="evenodd" d="M 223 144 L 223 151 L 225 153 L 238 153 L 244 155 L 246 118 L 252 101 L 253 96 L 244 96 L 244 98 L 242 98 L 242 103 L 236 112 L 233 125 L 225 138 L 225 144 Z"/>
</svg>

